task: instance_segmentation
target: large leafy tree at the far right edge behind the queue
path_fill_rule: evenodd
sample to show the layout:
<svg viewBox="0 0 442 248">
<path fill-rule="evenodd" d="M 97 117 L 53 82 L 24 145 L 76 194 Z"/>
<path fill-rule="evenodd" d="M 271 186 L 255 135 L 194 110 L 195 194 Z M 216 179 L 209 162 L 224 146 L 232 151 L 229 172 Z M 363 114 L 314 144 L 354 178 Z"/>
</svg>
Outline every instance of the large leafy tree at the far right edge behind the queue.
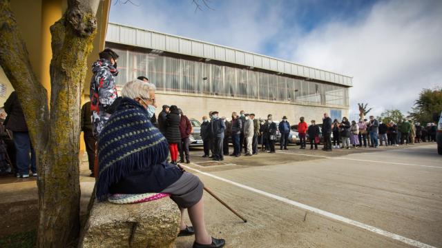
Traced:
<svg viewBox="0 0 442 248">
<path fill-rule="evenodd" d="M 439 116 L 442 110 L 442 87 L 436 89 L 423 89 L 419 98 L 414 101 L 414 107 L 409 112 L 414 121 L 430 123 Z"/>
</svg>

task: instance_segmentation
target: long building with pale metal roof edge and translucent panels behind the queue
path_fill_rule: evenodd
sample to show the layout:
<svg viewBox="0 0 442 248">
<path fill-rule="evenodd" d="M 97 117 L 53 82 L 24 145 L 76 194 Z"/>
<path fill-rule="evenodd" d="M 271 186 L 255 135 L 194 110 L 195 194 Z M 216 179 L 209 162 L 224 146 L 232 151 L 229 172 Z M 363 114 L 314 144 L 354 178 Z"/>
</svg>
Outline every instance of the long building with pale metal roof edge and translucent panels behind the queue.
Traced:
<svg viewBox="0 0 442 248">
<path fill-rule="evenodd" d="M 117 84 L 146 76 L 159 106 L 177 105 L 201 119 L 244 110 L 297 123 L 347 116 L 352 78 L 260 54 L 169 34 L 108 24 L 106 47 L 119 54 Z M 157 110 L 158 112 L 160 110 Z"/>
</svg>

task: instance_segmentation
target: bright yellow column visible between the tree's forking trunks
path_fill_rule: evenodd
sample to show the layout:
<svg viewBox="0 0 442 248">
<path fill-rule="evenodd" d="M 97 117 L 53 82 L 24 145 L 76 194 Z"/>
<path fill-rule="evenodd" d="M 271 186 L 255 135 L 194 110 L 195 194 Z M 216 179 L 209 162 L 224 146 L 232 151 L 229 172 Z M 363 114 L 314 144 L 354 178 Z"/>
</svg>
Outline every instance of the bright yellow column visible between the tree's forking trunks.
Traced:
<svg viewBox="0 0 442 248">
<path fill-rule="evenodd" d="M 50 47 L 51 35 L 50 26 L 58 21 L 63 14 L 63 0 L 41 1 L 41 55 L 40 55 L 40 82 L 48 90 L 50 100 L 50 74 L 49 65 L 52 59 L 52 48 Z"/>
</svg>

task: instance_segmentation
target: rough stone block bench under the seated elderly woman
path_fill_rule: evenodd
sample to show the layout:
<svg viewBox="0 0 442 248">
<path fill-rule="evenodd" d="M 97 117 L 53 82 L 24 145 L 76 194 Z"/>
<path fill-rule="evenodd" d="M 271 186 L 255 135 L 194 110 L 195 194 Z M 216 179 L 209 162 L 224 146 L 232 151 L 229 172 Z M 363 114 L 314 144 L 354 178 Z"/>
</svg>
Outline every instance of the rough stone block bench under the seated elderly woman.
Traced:
<svg viewBox="0 0 442 248">
<path fill-rule="evenodd" d="M 79 247 L 175 247 L 179 229 L 180 209 L 169 197 L 123 205 L 95 200 Z"/>
</svg>

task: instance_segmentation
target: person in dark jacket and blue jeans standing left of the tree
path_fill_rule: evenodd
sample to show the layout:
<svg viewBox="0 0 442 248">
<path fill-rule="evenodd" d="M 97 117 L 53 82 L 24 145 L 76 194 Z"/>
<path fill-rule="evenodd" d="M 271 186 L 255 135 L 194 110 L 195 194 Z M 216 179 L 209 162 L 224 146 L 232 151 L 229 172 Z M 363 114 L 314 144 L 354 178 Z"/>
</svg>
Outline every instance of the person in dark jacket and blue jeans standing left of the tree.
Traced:
<svg viewBox="0 0 442 248">
<path fill-rule="evenodd" d="M 6 129 L 12 131 L 16 149 L 17 177 L 28 178 L 29 166 L 32 176 L 37 176 L 35 152 L 30 142 L 28 126 L 26 125 L 17 92 L 12 92 L 8 100 L 6 100 L 5 111 L 8 114 Z"/>
</svg>

